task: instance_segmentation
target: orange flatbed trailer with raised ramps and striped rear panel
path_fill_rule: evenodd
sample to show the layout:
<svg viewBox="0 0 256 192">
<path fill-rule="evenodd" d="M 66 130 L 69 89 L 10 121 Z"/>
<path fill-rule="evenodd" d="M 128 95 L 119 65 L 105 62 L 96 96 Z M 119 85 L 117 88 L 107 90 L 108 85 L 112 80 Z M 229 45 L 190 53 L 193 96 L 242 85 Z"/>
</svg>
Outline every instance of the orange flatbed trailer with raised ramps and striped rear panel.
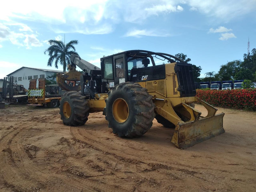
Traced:
<svg viewBox="0 0 256 192">
<path fill-rule="evenodd" d="M 28 90 L 28 105 L 44 106 L 56 108 L 60 105 L 60 95 L 45 95 L 45 78 L 38 79 L 38 89 L 36 89 L 36 79 L 30 79 Z"/>
</svg>

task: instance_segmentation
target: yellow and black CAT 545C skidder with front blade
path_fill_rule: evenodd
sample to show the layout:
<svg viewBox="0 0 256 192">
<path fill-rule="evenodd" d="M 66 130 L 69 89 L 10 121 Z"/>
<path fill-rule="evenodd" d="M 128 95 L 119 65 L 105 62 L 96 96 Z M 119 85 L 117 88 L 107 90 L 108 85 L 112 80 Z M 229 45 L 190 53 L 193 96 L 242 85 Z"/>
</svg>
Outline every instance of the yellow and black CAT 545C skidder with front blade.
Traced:
<svg viewBox="0 0 256 192">
<path fill-rule="evenodd" d="M 74 57 L 72 64 L 80 60 Z M 217 109 L 202 100 L 207 116 L 191 107 L 198 100 L 191 64 L 170 54 L 144 50 L 121 52 L 100 61 L 101 70 L 73 78 L 80 80 L 81 92 L 66 89 L 69 92 L 60 101 L 64 124 L 82 125 L 89 112 L 103 111 L 113 133 L 133 138 L 146 133 L 156 118 L 165 127 L 175 128 L 171 142 L 178 148 L 225 132 L 224 113 L 216 115 Z"/>
</svg>

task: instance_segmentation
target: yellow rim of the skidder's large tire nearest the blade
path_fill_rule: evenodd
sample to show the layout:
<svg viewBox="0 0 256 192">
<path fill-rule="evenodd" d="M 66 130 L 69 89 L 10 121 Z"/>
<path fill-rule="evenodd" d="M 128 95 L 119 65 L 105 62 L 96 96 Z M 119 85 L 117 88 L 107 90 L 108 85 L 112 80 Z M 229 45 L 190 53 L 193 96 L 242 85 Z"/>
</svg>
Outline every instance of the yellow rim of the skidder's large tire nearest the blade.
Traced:
<svg viewBox="0 0 256 192">
<path fill-rule="evenodd" d="M 129 108 L 125 100 L 118 98 L 114 101 L 112 107 L 114 118 L 119 123 L 124 123 L 129 116 Z"/>
</svg>

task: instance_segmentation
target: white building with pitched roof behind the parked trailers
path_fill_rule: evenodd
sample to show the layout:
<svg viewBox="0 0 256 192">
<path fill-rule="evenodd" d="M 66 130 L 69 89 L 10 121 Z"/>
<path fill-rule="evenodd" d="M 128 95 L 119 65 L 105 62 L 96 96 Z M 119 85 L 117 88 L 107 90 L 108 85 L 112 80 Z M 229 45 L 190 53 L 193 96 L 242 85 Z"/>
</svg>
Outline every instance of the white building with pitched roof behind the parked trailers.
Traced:
<svg viewBox="0 0 256 192">
<path fill-rule="evenodd" d="M 14 84 L 21 84 L 25 89 L 29 87 L 30 79 L 38 79 L 38 78 L 47 78 L 48 76 L 52 76 L 54 73 L 62 73 L 63 71 L 59 70 L 49 70 L 49 69 L 38 69 L 38 68 L 29 68 L 29 67 L 21 67 L 16 71 L 8 74 L 8 80 L 10 80 L 10 76 L 13 76 Z M 51 79 L 51 78 L 50 78 Z M 55 77 L 56 81 L 56 77 Z M 36 87 L 38 87 L 38 81 L 36 82 Z"/>
</svg>

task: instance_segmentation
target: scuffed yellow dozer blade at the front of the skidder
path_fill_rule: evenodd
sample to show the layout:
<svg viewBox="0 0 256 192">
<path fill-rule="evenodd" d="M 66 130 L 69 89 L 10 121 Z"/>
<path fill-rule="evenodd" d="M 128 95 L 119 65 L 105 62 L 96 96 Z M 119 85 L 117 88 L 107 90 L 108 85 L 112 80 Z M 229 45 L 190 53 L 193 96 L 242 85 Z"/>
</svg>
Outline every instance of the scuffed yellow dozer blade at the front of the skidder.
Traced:
<svg viewBox="0 0 256 192">
<path fill-rule="evenodd" d="M 225 132 L 223 129 L 224 113 L 211 117 L 199 118 L 195 121 L 178 123 L 175 127 L 171 142 L 180 149 L 196 145 L 204 140 Z"/>
</svg>

